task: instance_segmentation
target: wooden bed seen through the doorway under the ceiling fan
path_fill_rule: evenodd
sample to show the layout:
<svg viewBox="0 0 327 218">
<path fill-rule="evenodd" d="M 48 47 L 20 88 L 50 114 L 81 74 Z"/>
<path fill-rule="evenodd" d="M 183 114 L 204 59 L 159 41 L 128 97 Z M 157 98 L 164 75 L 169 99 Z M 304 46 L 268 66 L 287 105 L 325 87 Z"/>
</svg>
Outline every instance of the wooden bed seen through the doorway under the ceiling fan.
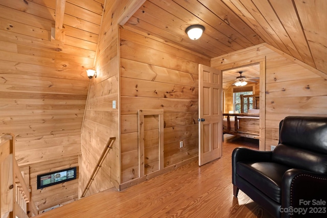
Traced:
<svg viewBox="0 0 327 218">
<path fill-rule="evenodd" d="M 244 113 L 249 108 L 249 98 L 253 98 L 254 109 L 248 109 L 248 113 Z M 259 139 L 259 113 L 259 95 L 241 95 L 241 113 L 223 113 L 223 134 Z"/>
</svg>

